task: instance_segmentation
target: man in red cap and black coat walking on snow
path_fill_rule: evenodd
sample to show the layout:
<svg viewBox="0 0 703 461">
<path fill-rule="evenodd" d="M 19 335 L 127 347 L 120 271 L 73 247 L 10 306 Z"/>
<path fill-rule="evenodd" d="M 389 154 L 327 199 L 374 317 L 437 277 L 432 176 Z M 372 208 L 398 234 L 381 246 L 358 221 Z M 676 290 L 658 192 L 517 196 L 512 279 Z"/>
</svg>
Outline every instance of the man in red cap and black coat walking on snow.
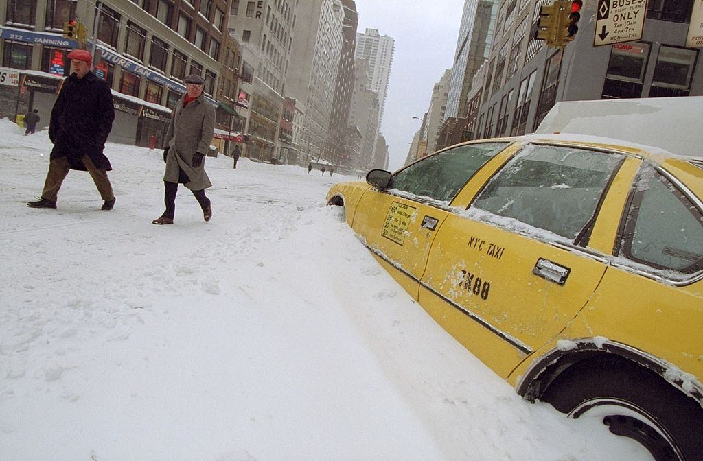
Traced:
<svg viewBox="0 0 703 461">
<path fill-rule="evenodd" d="M 90 72 L 89 51 L 68 53 L 73 73 L 67 77 L 51 110 L 49 138 L 53 143 L 49 173 L 46 174 L 41 200 L 27 203 L 32 208 L 56 208 L 56 197 L 68 171 L 88 171 L 105 201 L 102 209 L 115 206 L 115 195 L 108 179 L 112 169 L 103 154 L 115 108 L 110 86 Z"/>
</svg>

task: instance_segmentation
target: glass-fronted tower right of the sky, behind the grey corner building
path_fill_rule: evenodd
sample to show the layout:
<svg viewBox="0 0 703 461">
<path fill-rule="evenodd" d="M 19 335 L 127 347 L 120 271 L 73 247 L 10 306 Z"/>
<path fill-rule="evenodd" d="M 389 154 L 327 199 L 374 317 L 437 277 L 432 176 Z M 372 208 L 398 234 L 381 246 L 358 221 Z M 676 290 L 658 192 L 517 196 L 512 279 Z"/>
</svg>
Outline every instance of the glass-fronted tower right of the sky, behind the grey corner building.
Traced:
<svg viewBox="0 0 703 461">
<path fill-rule="evenodd" d="M 498 0 L 465 0 L 464 2 L 444 112 L 445 119 L 466 117 L 466 96 L 471 87 L 473 75 L 483 65 L 491 50 L 491 37 L 493 37 L 497 10 Z"/>
</svg>

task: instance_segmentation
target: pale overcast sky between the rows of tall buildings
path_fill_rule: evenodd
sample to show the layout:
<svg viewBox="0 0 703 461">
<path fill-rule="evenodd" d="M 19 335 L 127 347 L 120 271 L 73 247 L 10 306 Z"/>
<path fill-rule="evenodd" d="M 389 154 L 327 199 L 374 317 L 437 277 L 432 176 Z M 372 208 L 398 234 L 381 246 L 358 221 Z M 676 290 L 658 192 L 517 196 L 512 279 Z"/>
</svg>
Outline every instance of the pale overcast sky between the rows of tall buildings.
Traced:
<svg viewBox="0 0 703 461">
<path fill-rule="evenodd" d="M 432 87 L 452 67 L 464 0 L 434 2 L 355 0 L 359 32 L 378 29 L 395 39 L 393 66 L 381 132 L 389 168 L 401 167 L 415 131 L 430 105 Z"/>
</svg>

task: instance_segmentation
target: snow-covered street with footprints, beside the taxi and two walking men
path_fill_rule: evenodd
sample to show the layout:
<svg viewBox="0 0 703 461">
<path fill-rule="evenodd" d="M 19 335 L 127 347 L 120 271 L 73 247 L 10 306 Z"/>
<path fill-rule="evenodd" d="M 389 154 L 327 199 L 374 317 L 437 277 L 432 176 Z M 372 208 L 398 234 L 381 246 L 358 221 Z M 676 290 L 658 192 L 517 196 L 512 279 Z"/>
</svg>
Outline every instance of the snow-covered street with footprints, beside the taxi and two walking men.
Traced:
<svg viewBox="0 0 703 461">
<path fill-rule="evenodd" d="M 108 143 L 110 212 L 46 131 L 0 120 L 0 460 L 650 460 L 463 349 L 325 193 L 347 176 L 207 158 L 212 221 L 161 150 Z"/>
</svg>

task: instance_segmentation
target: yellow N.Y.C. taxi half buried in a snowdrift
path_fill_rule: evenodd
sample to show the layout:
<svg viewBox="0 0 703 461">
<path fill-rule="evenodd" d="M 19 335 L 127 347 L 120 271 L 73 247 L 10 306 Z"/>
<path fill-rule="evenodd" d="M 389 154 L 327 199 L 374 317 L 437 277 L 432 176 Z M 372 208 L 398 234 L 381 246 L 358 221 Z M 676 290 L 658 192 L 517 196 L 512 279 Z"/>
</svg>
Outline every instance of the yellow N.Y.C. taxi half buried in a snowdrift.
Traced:
<svg viewBox="0 0 703 461">
<path fill-rule="evenodd" d="M 328 204 L 521 396 L 703 460 L 703 159 L 578 139 L 455 145 Z"/>
</svg>

